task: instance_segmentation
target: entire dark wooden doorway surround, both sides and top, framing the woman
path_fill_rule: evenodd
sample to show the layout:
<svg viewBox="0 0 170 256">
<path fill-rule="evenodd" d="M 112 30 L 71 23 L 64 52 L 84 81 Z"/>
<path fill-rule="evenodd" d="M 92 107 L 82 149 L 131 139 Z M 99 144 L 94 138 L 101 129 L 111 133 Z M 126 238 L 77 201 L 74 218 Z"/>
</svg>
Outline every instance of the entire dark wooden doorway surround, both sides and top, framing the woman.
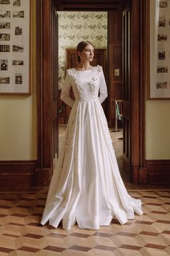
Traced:
<svg viewBox="0 0 170 256">
<path fill-rule="evenodd" d="M 57 1 L 37 0 L 37 169 L 35 170 L 35 184 L 50 183 L 53 170 L 53 157 L 57 147 L 55 139 L 57 132 L 54 120 L 57 120 L 56 98 L 53 98 L 53 47 L 52 47 L 52 17 L 53 3 L 60 11 L 124 11 L 123 33 L 123 64 L 124 74 L 124 153 L 123 164 L 133 183 L 145 182 L 147 170 L 145 168 L 145 83 L 143 83 L 144 44 L 143 35 L 146 0 L 109 0 L 109 1 Z M 123 7 L 122 7 L 123 4 Z M 131 5 L 125 8 L 124 5 Z M 111 27 L 112 28 L 112 27 Z M 110 29 L 111 29 L 110 28 Z M 112 59 L 109 56 L 110 59 Z M 110 67 L 113 67 L 111 65 Z M 114 72 L 110 69 L 110 73 Z M 55 77 L 56 81 L 57 77 Z M 53 110 L 54 109 L 54 110 Z M 55 150 L 53 150 L 55 148 Z M 54 153 L 55 152 L 55 153 Z"/>
</svg>

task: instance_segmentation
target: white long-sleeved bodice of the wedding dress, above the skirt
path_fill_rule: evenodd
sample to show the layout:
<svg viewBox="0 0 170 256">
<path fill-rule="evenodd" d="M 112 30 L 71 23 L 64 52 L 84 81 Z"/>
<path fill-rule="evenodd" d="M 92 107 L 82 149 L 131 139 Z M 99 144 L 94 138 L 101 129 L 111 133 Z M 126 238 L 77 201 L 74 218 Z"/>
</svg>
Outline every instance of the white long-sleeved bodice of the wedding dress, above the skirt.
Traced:
<svg viewBox="0 0 170 256">
<path fill-rule="evenodd" d="M 107 85 L 100 66 L 84 71 L 74 68 L 67 70 L 61 91 L 61 100 L 72 107 L 74 101 L 69 96 L 71 86 L 75 101 L 89 103 L 98 98 L 99 102 L 102 103 L 107 98 Z"/>
</svg>

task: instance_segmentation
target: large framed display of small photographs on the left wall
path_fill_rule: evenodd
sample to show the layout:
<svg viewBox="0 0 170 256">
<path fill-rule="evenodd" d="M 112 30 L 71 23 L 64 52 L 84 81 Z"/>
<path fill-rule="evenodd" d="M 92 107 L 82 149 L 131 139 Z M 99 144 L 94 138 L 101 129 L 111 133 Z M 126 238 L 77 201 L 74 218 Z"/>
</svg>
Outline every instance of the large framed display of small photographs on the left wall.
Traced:
<svg viewBox="0 0 170 256">
<path fill-rule="evenodd" d="M 30 95 L 32 0 L 0 0 L 0 94 Z"/>
</svg>

